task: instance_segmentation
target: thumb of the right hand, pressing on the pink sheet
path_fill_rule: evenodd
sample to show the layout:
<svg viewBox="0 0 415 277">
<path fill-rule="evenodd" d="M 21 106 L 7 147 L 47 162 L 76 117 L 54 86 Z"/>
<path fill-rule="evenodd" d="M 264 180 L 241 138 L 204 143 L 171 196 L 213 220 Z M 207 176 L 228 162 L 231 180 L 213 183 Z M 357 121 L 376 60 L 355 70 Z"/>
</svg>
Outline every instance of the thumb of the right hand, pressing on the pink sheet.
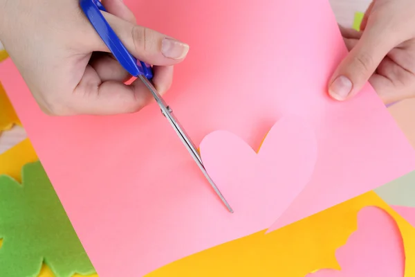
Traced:
<svg viewBox="0 0 415 277">
<path fill-rule="evenodd" d="M 346 100 L 356 95 L 387 53 L 394 48 L 396 43 L 391 39 L 394 37 L 393 33 L 380 27 L 375 25 L 367 28 L 356 46 L 335 70 L 329 81 L 331 97 L 336 100 Z"/>
</svg>

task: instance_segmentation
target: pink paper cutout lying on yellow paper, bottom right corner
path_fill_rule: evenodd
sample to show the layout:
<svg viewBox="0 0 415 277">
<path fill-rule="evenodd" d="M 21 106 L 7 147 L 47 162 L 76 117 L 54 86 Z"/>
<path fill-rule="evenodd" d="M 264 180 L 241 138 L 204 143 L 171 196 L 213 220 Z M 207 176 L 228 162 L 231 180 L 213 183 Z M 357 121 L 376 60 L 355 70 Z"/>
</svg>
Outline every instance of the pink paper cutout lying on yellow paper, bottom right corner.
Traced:
<svg viewBox="0 0 415 277">
<path fill-rule="evenodd" d="M 376 207 L 358 214 L 358 231 L 336 252 L 341 271 L 322 269 L 307 277 L 403 277 L 405 252 L 394 219 Z"/>
</svg>

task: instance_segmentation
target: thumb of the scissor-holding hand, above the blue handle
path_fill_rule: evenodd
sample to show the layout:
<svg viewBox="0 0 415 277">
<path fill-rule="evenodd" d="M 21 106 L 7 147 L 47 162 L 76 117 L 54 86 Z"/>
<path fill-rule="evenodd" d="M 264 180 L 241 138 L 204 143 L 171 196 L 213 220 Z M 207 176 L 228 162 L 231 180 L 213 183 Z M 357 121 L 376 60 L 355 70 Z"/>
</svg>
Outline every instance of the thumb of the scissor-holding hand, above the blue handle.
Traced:
<svg viewBox="0 0 415 277">
<path fill-rule="evenodd" d="M 107 12 L 103 12 L 103 15 L 131 55 L 142 62 L 156 66 L 174 65 L 183 61 L 189 52 L 189 45 L 184 42 Z M 105 47 L 95 51 L 109 50 Z"/>
</svg>

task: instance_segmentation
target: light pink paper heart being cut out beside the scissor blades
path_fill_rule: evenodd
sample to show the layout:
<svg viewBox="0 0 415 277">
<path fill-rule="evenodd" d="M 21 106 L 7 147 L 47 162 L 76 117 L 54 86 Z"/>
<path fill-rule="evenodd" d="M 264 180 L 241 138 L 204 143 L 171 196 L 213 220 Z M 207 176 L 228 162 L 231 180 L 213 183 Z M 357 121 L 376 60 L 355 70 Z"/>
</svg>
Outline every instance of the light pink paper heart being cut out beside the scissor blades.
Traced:
<svg viewBox="0 0 415 277">
<path fill-rule="evenodd" d="M 239 223 L 255 222 L 265 229 L 311 178 L 317 142 L 304 121 L 287 117 L 270 129 L 258 153 L 238 136 L 216 131 L 201 142 L 201 156 Z"/>
</svg>

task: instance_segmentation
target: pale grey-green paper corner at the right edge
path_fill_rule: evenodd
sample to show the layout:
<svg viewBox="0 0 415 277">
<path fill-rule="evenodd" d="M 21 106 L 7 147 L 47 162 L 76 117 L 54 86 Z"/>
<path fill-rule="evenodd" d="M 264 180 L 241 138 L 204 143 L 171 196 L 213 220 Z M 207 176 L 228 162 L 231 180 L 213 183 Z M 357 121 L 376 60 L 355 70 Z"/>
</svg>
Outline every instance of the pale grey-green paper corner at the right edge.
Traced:
<svg viewBox="0 0 415 277">
<path fill-rule="evenodd" d="M 391 206 L 415 207 L 415 171 L 375 190 Z"/>
</svg>

